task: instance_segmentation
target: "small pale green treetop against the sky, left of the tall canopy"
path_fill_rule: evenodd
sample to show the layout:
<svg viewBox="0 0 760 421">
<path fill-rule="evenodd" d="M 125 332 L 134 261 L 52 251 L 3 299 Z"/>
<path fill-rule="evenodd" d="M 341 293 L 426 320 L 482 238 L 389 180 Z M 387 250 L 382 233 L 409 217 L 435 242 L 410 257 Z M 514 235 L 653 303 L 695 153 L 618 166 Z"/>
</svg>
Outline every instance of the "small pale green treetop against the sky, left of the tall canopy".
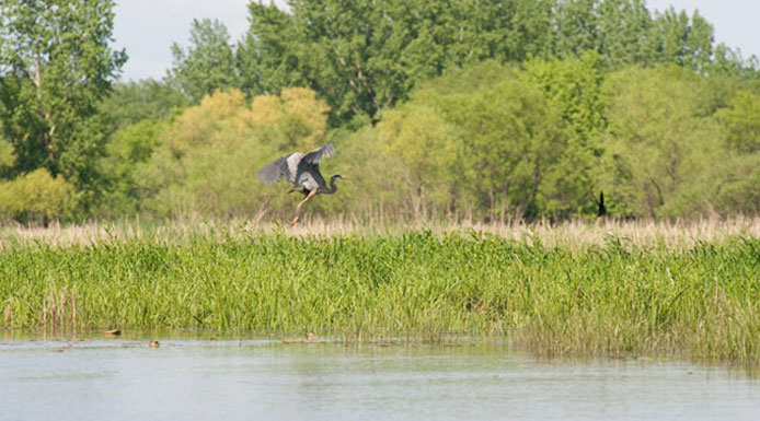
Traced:
<svg viewBox="0 0 760 421">
<path fill-rule="evenodd" d="M 238 75 L 227 27 L 217 20 L 193 20 L 191 46 L 172 44 L 168 78 L 194 102 L 216 90 L 235 87 Z"/>
</svg>

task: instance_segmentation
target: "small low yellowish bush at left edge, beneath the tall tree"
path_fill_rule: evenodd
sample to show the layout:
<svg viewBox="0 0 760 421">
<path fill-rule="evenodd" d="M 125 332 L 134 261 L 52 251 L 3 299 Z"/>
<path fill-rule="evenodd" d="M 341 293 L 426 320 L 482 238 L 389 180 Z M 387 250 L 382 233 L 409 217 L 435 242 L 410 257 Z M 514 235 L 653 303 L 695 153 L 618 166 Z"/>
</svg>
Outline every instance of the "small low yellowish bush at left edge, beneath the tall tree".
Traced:
<svg viewBox="0 0 760 421">
<path fill-rule="evenodd" d="M 73 187 L 61 176 L 39 168 L 0 184 L 0 213 L 27 223 L 60 218 L 72 199 Z"/>
</svg>

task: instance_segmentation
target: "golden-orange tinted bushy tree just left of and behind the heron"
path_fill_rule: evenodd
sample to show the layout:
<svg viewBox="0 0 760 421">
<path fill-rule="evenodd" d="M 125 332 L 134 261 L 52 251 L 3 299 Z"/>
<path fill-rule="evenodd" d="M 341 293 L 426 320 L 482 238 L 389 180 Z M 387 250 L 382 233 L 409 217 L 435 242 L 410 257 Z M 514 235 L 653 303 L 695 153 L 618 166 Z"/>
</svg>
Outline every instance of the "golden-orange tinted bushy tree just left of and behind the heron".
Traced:
<svg viewBox="0 0 760 421">
<path fill-rule="evenodd" d="M 152 192 L 150 208 L 160 214 L 279 209 L 287 198 L 261 185 L 256 172 L 280 154 L 320 143 L 326 110 L 307 89 L 257 96 L 252 106 L 240 91 L 216 92 L 163 130 L 151 161 L 138 169 L 140 189 Z"/>
</svg>

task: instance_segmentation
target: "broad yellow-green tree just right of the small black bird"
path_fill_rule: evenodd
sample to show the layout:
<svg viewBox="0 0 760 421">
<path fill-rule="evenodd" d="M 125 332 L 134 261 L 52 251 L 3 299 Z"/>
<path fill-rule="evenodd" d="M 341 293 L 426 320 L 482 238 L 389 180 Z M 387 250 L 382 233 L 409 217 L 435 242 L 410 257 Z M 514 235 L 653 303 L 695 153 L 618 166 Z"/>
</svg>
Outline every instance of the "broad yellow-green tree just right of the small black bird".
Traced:
<svg viewBox="0 0 760 421">
<path fill-rule="evenodd" d="M 618 215 L 707 213 L 727 163 L 706 78 L 676 66 L 626 68 L 604 84 L 601 187 Z"/>
</svg>

